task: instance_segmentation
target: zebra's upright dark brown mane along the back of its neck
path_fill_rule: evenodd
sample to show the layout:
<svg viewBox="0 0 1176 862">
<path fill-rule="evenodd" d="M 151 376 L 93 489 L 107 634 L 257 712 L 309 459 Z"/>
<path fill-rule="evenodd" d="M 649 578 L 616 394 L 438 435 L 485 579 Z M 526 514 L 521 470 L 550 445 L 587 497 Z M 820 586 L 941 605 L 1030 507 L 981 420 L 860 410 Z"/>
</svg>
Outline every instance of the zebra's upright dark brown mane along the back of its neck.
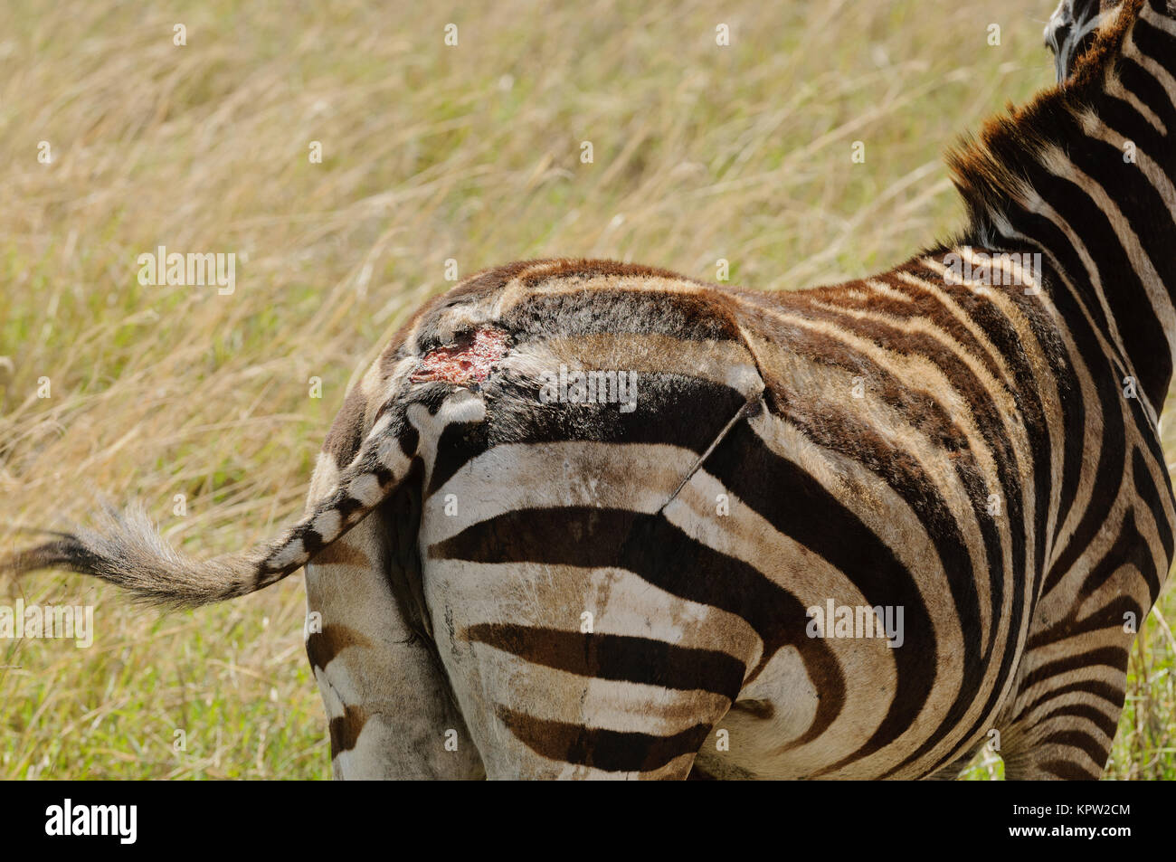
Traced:
<svg viewBox="0 0 1176 862">
<path fill-rule="evenodd" d="M 1027 178 L 1040 165 L 1038 154 L 1053 143 L 1065 148 L 1075 112 L 1097 102 L 1108 65 L 1120 56 L 1145 1 L 1124 0 L 1109 13 L 1116 18 L 1100 27 L 1068 80 L 1022 107 L 1009 103 L 978 135 L 965 135 L 948 151 L 953 182 L 968 208 L 969 236 L 993 235 L 993 214 L 1005 212 L 1009 205 L 1021 206 L 1031 195 Z"/>
</svg>

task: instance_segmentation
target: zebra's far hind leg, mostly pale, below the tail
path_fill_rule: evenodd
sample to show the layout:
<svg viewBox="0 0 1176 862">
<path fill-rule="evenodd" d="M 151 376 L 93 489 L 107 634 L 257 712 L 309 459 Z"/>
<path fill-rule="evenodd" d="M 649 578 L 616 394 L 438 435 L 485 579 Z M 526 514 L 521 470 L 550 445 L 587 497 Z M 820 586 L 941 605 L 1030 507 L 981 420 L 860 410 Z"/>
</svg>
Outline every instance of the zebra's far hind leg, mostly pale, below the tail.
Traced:
<svg viewBox="0 0 1176 862">
<path fill-rule="evenodd" d="M 312 504 L 334 469 L 325 454 Z M 406 488 L 306 567 L 306 648 L 336 779 L 485 777 L 406 572 L 417 494 Z"/>
</svg>

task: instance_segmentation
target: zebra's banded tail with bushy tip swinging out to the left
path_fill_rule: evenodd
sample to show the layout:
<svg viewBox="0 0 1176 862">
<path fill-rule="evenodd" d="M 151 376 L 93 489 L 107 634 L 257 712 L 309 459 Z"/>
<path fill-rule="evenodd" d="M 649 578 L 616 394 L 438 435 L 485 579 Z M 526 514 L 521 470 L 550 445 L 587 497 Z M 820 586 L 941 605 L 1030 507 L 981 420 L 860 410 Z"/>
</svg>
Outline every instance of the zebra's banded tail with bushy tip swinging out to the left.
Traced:
<svg viewBox="0 0 1176 862">
<path fill-rule="evenodd" d="M 64 568 L 118 584 L 149 604 L 173 608 L 248 595 L 296 572 L 393 494 L 417 442 L 403 410 L 387 412 L 333 490 L 279 537 L 248 550 L 207 561 L 185 556 L 160 536 L 141 508 L 133 507 L 121 515 L 107 512 L 98 529 L 54 533 L 52 541 L 0 557 L 0 574 Z"/>
</svg>

